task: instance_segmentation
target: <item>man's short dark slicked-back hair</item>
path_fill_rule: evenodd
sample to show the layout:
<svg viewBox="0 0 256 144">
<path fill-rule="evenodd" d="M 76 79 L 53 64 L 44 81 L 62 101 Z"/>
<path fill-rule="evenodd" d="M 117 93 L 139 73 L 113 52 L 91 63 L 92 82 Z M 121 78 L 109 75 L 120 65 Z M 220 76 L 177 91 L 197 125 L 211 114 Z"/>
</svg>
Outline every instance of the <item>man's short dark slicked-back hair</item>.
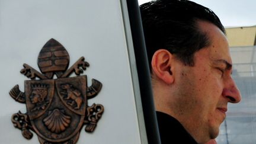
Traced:
<svg viewBox="0 0 256 144">
<path fill-rule="evenodd" d="M 149 66 L 153 53 L 167 49 L 185 65 L 194 65 L 194 53 L 209 46 L 198 20 L 215 24 L 225 34 L 217 15 L 209 8 L 186 0 L 156 0 L 140 5 Z"/>
</svg>

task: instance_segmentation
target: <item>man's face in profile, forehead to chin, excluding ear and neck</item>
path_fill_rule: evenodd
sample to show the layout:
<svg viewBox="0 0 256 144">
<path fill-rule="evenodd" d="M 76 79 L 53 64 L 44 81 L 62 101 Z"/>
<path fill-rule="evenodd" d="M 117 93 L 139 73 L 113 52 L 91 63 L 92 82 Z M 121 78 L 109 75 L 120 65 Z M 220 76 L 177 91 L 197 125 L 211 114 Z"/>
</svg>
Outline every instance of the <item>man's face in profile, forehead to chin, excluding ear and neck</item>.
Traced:
<svg viewBox="0 0 256 144">
<path fill-rule="evenodd" d="M 238 103 L 241 95 L 231 77 L 232 60 L 225 35 L 206 21 L 199 21 L 199 27 L 209 36 L 210 45 L 195 53 L 194 66 L 179 70 L 178 91 L 184 104 L 176 117 L 188 132 L 209 133 L 213 139 L 226 117 L 228 102 Z"/>
</svg>

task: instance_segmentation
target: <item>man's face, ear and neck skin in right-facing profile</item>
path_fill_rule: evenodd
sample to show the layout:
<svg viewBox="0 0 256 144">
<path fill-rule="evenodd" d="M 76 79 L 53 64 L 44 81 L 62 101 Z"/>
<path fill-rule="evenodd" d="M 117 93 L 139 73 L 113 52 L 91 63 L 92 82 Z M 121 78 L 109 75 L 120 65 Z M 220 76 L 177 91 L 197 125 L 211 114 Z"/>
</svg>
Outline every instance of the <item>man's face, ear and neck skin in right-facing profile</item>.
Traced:
<svg viewBox="0 0 256 144">
<path fill-rule="evenodd" d="M 152 57 L 152 83 L 156 110 L 180 121 L 200 143 L 217 137 L 228 103 L 238 103 L 241 95 L 231 77 L 225 34 L 212 23 L 199 20 L 197 24 L 210 43 L 194 53 L 194 65 L 157 50 Z"/>
</svg>

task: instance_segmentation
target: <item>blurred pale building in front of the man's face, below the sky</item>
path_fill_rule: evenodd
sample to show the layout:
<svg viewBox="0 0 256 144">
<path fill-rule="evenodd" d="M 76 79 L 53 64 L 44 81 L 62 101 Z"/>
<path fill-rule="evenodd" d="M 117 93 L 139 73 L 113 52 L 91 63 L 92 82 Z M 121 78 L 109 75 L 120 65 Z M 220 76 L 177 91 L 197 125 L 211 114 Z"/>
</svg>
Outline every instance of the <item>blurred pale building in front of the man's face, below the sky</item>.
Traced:
<svg viewBox="0 0 256 144">
<path fill-rule="evenodd" d="M 229 104 L 218 144 L 256 143 L 256 25 L 226 28 L 233 61 L 233 79 L 242 101 Z"/>
</svg>

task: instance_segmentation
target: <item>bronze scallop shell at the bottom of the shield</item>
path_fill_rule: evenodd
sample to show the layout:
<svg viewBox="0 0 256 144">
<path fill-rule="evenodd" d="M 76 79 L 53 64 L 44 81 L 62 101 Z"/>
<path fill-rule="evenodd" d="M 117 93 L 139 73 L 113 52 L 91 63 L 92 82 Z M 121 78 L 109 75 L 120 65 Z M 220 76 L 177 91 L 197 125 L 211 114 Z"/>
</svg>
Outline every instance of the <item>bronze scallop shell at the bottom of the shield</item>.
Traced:
<svg viewBox="0 0 256 144">
<path fill-rule="evenodd" d="M 69 126 L 71 117 L 66 116 L 59 109 L 55 109 L 43 121 L 51 132 L 59 134 Z"/>
</svg>

